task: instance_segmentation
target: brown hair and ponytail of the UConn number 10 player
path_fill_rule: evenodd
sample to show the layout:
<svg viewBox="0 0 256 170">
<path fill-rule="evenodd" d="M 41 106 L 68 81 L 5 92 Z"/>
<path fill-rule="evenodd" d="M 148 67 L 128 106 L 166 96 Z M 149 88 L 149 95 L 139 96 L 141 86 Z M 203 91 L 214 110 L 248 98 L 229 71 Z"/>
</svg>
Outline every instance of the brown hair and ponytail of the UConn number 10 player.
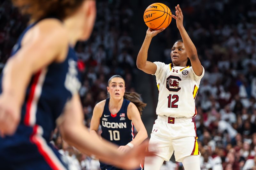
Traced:
<svg viewBox="0 0 256 170">
<path fill-rule="evenodd" d="M 111 78 L 109 78 L 108 86 L 109 86 L 109 83 L 112 80 L 112 78 L 115 78 L 115 77 L 122 78 L 124 80 L 124 78 L 122 76 L 114 75 Z M 147 104 L 144 103 L 143 101 L 141 101 L 140 94 L 138 94 L 136 92 L 124 92 L 124 99 L 129 100 L 132 103 L 134 103 L 135 106 L 138 108 L 140 115 L 142 115 L 142 110 L 144 107 L 147 106 Z"/>
</svg>

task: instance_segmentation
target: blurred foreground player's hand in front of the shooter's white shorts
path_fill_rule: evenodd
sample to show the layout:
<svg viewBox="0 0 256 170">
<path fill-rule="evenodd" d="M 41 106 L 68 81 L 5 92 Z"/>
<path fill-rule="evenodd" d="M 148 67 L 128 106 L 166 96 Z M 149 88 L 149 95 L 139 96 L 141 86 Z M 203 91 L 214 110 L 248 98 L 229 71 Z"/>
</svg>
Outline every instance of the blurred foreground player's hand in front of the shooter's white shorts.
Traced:
<svg viewBox="0 0 256 170">
<path fill-rule="evenodd" d="M 141 159 L 145 156 L 155 156 L 155 152 L 148 152 L 148 140 L 142 142 L 139 146 L 132 148 L 118 158 L 118 165 L 123 169 L 136 169 L 140 167 Z"/>
</svg>

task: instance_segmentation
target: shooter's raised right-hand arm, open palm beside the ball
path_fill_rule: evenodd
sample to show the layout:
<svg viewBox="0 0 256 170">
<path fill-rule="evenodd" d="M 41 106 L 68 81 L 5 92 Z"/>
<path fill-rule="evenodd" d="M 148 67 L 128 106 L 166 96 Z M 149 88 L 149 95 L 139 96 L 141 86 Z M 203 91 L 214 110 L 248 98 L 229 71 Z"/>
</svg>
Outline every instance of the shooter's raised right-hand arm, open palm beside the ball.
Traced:
<svg viewBox="0 0 256 170">
<path fill-rule="evenodd" d="M 197 76 L 201 76 L 203 73 L 203 67 L 201 65 L 200 60 L 198 59 L 196 47 L 189 38 L 188 33 L 183 26 L 183 14 L 179 4 L 175 6 L 175 10 L 176 16 L 172 14 L 172 18 L 176 19 L 176 25 L 180 31 L 180 35 L 183 40 L 185 49 L 187 51 L 188 58 L 191 61 L 192 69 Z"/>
</svg>

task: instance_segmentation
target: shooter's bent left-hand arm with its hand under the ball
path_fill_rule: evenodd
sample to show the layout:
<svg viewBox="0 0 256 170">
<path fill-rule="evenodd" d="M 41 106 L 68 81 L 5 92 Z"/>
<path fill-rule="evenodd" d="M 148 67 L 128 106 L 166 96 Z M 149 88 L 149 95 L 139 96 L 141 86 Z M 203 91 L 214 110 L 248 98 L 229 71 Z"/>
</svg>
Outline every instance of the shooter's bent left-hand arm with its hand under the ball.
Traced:
<svg viewBox="0 0 256 170">
<path fill-rule="evenodd" d="M 164 28 L 162 28 L 160 30 L 155 30 L 155 31 L 150 28 L 148 28 L 148 30 L 147 30 L 146 37 L 145 37 L 144 42 L 140 48 L 139 54 L 137 56 L 137 61 L 136 61 L 136 65 L 137 65 L 138 69 L 144 71 L 145 73 L 148 73 L 148 74 L 156 73 L 156 69 L 157 69 L 156 64 L 154 64 L 150 61 L 147 61 L 148 48 L 149 48 L 152 38 L 162 31 L 164 31 Z"/>
</svg>

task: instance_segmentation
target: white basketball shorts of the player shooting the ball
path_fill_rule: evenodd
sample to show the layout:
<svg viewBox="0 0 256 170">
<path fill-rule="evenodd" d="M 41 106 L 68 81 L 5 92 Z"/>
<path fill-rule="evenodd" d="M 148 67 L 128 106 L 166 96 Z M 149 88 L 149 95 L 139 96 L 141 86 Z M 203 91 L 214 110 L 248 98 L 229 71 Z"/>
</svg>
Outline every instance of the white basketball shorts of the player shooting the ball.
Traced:
<svg viewBox="0 0 256 170">
<path fill-rule="evenodd" d="M 149 140 L 149 151 L 169 161 L 173 152 L 181 162 L 189 155 L 200 155 L 197 144 L 196 123 L 192 118 L 171 118 L 158 115 Z M 155 144 L 155 145 L 151 145 Z"/>
</svg>

